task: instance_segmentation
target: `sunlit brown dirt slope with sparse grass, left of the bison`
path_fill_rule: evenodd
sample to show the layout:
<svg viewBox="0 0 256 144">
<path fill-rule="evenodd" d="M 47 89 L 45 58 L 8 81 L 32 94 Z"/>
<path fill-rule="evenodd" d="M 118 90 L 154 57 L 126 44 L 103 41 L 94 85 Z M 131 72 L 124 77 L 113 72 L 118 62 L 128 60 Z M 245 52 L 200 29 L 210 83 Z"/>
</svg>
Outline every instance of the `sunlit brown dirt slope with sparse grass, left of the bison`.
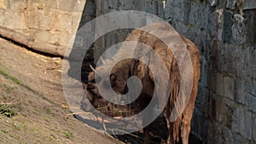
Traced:
<svg viewBox="0 0 256 144">
<path fill-rule="evenodd" d="M 121 143 L 90 129 L 61 106 L 67 106 L 61 59 L 0 38 L 0 143 Z"/>
</svg>

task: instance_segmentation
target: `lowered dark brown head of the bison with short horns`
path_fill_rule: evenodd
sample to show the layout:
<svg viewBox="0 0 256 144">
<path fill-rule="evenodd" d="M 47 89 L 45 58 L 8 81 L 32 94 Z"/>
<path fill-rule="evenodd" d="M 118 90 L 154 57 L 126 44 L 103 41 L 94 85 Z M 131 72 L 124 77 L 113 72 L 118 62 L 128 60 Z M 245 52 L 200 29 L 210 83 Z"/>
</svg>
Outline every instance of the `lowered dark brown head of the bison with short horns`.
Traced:
<svg viewBox="0 0 256 144">
<path fill-rule="evenodd" d="M 104 60 L 102 66 L 97 66 L 96 69 L 90 66 L 93 72 L 88 75 L 88 84 L 84 87 L 86 89 L 86 95 L 84 95 L 81 101 L 81 106 L 84 111 L 90 111 L 88 104 L 86 104 L 86 99 L 90 101 L 93 107 L 100 107 L 98 104 L 102 103 L 100 101 L 107 100 L 120 104 L 124 101 L 124 97 L 128 92 L 127 80 L 131 77 L 131 59 L 125 59 L 119 61 L 115 66 L 113 66 L 111 72 L 108 72 L 108 66 L 110 62 Z M 104 98 L 102 97 L 104 95 Z M 85 97 L 86 96 L 86 97 Z M 126 97 L 127 98 L 127 97 Z M 105 100 L 106 101 L 106 100 Z"/>
</svg>

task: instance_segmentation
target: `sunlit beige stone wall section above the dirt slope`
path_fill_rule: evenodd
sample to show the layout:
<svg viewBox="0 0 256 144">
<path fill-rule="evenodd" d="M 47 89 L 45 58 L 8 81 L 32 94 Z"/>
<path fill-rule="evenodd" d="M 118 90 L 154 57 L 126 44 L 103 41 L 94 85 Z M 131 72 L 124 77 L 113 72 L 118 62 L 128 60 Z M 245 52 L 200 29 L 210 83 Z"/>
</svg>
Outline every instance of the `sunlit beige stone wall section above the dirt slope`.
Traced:
<svg viewBox="0 0 256 144">
<path fill-rule="evenodd" d="M 0 0 L 0 35 L 32 49 L 64 55 L 85 0 Z"/>
</svg>

